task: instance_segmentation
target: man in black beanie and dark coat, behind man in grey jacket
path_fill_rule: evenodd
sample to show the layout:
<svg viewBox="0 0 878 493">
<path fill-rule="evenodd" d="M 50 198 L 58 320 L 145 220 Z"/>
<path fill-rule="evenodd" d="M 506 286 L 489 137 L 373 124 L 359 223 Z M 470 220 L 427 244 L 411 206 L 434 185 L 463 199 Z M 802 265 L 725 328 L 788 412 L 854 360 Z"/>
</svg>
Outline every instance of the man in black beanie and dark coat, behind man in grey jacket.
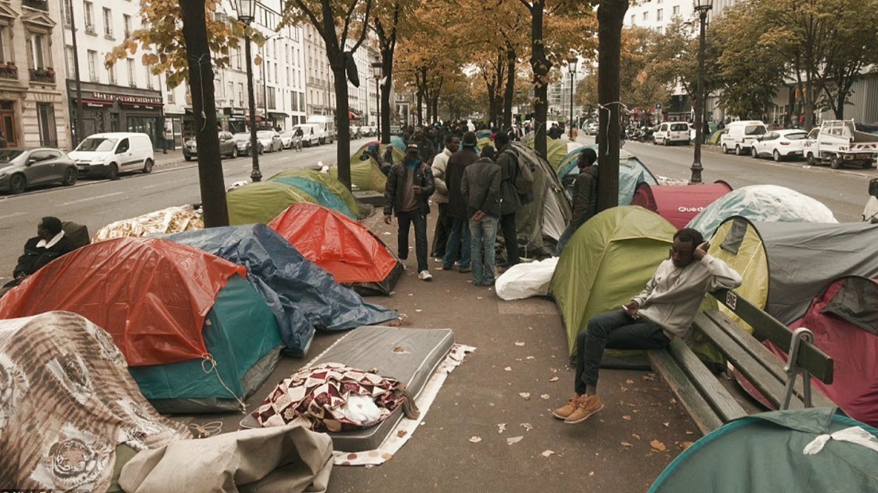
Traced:
<svg viewBox="0 0 878 493">
<path fill-rule="evenodd" d="M 445 184 L 448 186 L 448 215 L 452 223 L 448 243 L 445 244 L 442 268 L 443 270 L 451 270 L 454 268 L 454 262 L 457 261 L 457 269 L 460 272 L 470 272 L 469 214 L 466 211 L 466 199 L 460 184 L 464 179 L 466 167 L 479 159 L 476 154 L 476 134 L 473 132 L 464 133 L 463 144 L 463 149 L 451 154 L 448 158 L 448 168 L 445 170 Z"/>
</svg>

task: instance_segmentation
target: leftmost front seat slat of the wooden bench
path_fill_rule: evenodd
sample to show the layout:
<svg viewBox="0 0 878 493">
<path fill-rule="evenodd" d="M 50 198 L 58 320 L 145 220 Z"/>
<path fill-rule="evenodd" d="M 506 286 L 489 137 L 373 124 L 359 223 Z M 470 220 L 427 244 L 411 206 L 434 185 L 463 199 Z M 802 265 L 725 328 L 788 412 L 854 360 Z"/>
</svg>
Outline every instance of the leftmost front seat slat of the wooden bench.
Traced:
<svg viewBox="0 0 878 493">
<path fill-rule="evenodd" d="M 668 351 L 664 349 L 648 351 L 647 357 L 652 364 L 652 370 L 665 380 L 673 395 L 698 427 L 698 431 L 706 435 L 723 425 L 723 420 L 716 415 L 716 411 L 710 407 L 699 389 L 689 380 Z"/>
</svg>

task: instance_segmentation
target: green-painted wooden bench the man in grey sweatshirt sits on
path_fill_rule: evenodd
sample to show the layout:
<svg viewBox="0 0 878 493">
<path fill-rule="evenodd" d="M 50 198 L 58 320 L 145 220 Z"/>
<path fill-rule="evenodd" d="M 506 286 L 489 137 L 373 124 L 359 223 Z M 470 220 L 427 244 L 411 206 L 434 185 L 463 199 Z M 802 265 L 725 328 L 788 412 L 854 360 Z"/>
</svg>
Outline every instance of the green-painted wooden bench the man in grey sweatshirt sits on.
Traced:
<svg viewBox="0 0 878 493">
<path fill-rule="evenodd" d="M 800 330 L 794 335 L 781 322 L 729 289 L 711 294 L 738 318 L 751 325 L 754 332 L 752 335 L 746 332 L 718 310 L 699 313 L 693 322 L 694 329 L 709 339 L 730 365 L 744 375 L 774 408 L 835 405 L 819 391 L 810 388 L 811 376 L 824 383 L 832 382 L 832 358 L 810 343 L 810 332 Z M 791 354 L 790 348 L 796 339 L 798 342 L 795 343 L 789 371 L 788 365 L 760 342 L 769 340 L 774 346 Z M 648 357 L 653 370 L 665 379 L 702 433 L 747 415 L 682 340 L 674 339 L 667 349 L 650 351 Z M 796 375 L 801 375 L 801 378 L 796 378 Z M 790 380 L 795 385 L 791 384 L 788 389 Z"/>
</svg>

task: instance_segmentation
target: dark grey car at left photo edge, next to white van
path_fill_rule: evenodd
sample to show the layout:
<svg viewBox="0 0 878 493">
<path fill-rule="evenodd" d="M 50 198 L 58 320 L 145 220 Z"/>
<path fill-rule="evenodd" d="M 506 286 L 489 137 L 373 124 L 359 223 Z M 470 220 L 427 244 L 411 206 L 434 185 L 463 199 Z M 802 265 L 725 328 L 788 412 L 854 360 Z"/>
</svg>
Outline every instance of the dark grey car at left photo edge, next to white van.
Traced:
<svg viewBox="0 0 878 493">
<path fill-rule="evenodd" d="M 0 191 L 20 194 L 33 185 L 76 184 L 76 162 L 58 149 L 0 149 Z"/>
</svg>

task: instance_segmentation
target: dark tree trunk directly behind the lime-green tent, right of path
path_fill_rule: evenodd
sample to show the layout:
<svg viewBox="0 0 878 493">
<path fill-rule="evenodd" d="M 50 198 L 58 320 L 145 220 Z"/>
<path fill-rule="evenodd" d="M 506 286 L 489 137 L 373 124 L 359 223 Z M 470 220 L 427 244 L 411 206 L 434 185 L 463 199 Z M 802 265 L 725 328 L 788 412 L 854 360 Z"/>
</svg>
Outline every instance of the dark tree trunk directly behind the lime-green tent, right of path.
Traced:
<svg viewBox="0 0 878 493">
<path fill-rule="evenodd" d="M 598 7 L 598 211 L 619 204 L 619 99 L 622 65 L 622 25 L 628 0 L 605 0 Z"/>
</svg>

